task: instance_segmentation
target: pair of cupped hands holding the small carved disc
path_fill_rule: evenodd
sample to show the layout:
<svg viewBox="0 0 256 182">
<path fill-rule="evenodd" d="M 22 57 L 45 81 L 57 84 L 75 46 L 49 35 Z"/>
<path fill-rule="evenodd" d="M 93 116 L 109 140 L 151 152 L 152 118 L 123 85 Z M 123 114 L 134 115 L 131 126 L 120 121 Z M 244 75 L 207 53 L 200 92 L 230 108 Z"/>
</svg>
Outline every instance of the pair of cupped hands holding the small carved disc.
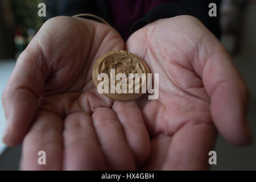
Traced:
<svg viewBox="0 0 256 182">
<path fill-rule="evenodd" d="M 126 50 L 159 73 L 159 98 L 99 94 L 94 61 Z M 59 16 L 17 60 L 2 96 L 3 141 L 23 142 L 21 169 L 208 169 L 217 131 L 251 142 L 248 91 L 218 39 L 193 16 L 159 19 L 123 42 L 114 28 Z M 39 165 L 39 151 L 46 165 Z"/>
</svg>

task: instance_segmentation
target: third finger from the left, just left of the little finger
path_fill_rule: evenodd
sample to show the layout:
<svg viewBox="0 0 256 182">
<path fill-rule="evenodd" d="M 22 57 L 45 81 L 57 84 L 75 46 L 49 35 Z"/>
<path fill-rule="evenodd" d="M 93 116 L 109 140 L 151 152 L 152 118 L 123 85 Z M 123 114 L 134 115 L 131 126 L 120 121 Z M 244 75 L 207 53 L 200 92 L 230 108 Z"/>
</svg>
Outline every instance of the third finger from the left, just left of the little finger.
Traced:
<svg viewBox="0 0 256 182">
<path fill-rule="evenodd" d="M 135 162 L 123 134 L 123 129 L 112 109 L 98 107 L 92 114 L 93 125 L 109 168 L 135 169 Z"/>
</svg>

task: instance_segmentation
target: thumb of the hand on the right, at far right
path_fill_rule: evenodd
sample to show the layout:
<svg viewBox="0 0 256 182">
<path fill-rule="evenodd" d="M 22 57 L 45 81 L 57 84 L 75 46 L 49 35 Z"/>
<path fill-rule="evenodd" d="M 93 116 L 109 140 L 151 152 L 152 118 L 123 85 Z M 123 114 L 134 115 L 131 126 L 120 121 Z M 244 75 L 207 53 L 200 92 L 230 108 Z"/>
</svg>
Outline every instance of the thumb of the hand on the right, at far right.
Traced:
<svg viewBox="0 0 256 182">
<path fill-rule="evenodd" d="M 211 98 L 213 122 L 222 136 L 232 144 L 251 142 L 246 121 L 248 90 L 224 47 L 205 63 L 203 82 Z"/>
</svg>

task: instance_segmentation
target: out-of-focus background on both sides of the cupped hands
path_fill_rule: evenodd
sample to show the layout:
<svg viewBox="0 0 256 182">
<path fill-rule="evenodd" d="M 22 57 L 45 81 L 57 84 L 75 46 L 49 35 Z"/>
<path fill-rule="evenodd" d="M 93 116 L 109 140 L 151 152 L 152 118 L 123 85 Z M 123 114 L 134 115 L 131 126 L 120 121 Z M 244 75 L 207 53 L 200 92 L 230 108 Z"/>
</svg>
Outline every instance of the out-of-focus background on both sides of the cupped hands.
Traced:
<svg viewBox="0 0 256 182">
<path fill-rule="evenodd" d="M 38 16 L 38 4 L 46 3 L 47 16 Z M 58 15 L 61 1 L 0 0 L 0 96 L 20 52 L 52 16 Z M 249 125 L 256 138 L 256 0 L 222 0 L 221 42 L 231 53 L 250 90 Z M 0 138 L 5 117 L 0 103 Z M 0 142 L 0 170 L 18 170 L 22 145 L 6 147 Z M 256 170 L 256 144 L 238 148 L 218 136 L 217 165 L 212 170 Z"/>
</svg>

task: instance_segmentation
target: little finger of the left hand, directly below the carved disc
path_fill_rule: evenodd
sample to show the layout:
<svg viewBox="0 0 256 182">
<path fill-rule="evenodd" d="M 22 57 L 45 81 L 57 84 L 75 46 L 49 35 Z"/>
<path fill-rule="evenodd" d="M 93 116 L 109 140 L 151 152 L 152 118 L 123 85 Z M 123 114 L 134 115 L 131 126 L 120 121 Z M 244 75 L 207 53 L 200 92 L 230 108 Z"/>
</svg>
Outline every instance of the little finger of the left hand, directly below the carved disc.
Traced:
<svg viewBox="0 0 256 182">
<path fill-rule="evenodd" d="M 144 125 L 141 110 L 135 101 L 115 101 L 113 110 L 123 126 L 125 137 L 134 158 L 141 166 L 150 153 L 150 138 Z"/>
</svg>

